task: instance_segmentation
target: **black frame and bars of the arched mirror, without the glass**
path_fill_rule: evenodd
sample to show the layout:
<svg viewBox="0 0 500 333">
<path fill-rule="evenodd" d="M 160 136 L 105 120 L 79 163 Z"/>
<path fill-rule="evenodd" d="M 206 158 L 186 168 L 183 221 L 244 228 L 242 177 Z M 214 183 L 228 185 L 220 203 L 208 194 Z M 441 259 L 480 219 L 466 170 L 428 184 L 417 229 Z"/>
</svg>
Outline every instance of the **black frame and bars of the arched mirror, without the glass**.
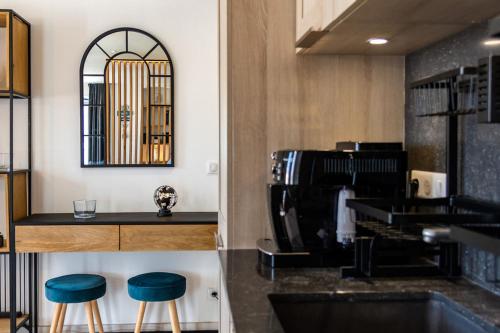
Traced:
<svg viewBox="0 0 500 333">
<path fill-rule="evenodd" d="M 112 56 L 110 56 L 99 44 L 98 42 L 100 40 L 102 40 L 103 38 L 105 38 L 106 36 L 109 36 L 111 34 L 114 34 L 114 33 L 117 33 L 117 32 L 125 32 L 125 47 L 126 49 L 124 51 L 118 51 L 116 52 L 115 54 L 113 54 Z M 155 44 L 153 45 L 153 47 L 148 51 L 146 52 L 146 54 L 144 56 L 141 56 L 139 54 L 137 54 L 136 52 L 132 52 L 132 51 L 129 51 L 128 47 L 129 47 L 129 32 L 135 32 L 135 33 L 139 33 L 139 34 L 143 34 L 145 35 L 146 37 L 149 37 L 151 38 Z M 106 61 L 106 65 L 104 66 L 104 69 L 103 69 L 103 72 L 102 74 L 85 74 L 84 73 L 84 69 L 85 69 L 85 63 L 87 61 L 87 57 L 90 53 L 90 51 L 93 49 L 94 46 L 96 46 L 103 52 L 103 54 L 107 57 L 107 61 Z M 113 60 L 114 58 L 116 58 L 117 56 L 119 55 L 122 55 L 122 54 L 133 54 L 137 57 L 139 57 L 140 59 L 142 59 L 142 61 L 146 62 L 147 61 L 147 57 L 157 48 L 157 47 L 160 47 L 162 49 L 162 51 L 165 53 L 165 55 L 167 56 L 167 60 L 168 60 L 168 65 L 169 65 L 169 69 L 170 69 L 170 89 L 171 89 L 171 107 L 170 107 L 170 112 L 171 112 L 171 129 L 170 129 L 170 162 L 169 163 L 166 163 L 166 164 L 151 164 L 151 163 L 148 163 L 148 164 L 85 164 L 85 161 L 84 161 L 84 148 L 85 148 L 85 133 L 84 133 L 84 112 L 85 112 L 85 96 L 84 96 L 84 77 L 85 76 L 102 76 L 103 78 L 105 77 L 105 73 L 106 73 L 106 69 L 108 68 L 108 64 L 111 60 Z M 148 73 L 150 71 L 149 69 L 149 66 L 145 66 L 147 69 L 148 69 Z M 150 74 L 150 73 L 149 73 Z M 173 62 L 172 62 L 172 58 L 170 57 L 170 54 L 168 53 L 167 49 L 165 48 L 165 46 L 160 42 L 160 40 L 158 40 L 158 38 L 156 38 L 155 36 L 153 36 L 152 34 L 144 31 L 144 30 L 141 30 L 141 29 L 137 29 L 137 28 L 131 28 L 131 27 L 122 27 L 122 28 L 116 28 L 116 29 L 112 29 L 112 30 L 109 30 L 109 31 L 106 31 L 102 34 L 100 34 L 99 36 L 97 36 L 93 41 L 92 43 L 90 43 L 90 45 L 87 47 L 87 49 L 85 50 L 84 54 L 83 54 L 83 57 L 82 57 L 82 60 L 80 62 L 80 167 L 82 168 L 111 168 L 111 167 L 118 167 L 118 168 L 128 168 L 128 167 L 142 167 L 142 168 L 147 168 L 147 167 L 174 167 L 175 164 L 174 164 L 174 151 L 175 151 L 175 140 L 174 140 L 174 129 L 175 129 L 175 126 L 174 126 L 174 116 L 175 116 L 175 108 L 174 108 L 174 96 L 175 96 L 175 90 L 174 90 L 174 83 L 175 83 L 175 79 L 174 79 L 174 66 L 173 66 Z M 149 84 L 149 82 L 148 82 Z"/>
</svg>

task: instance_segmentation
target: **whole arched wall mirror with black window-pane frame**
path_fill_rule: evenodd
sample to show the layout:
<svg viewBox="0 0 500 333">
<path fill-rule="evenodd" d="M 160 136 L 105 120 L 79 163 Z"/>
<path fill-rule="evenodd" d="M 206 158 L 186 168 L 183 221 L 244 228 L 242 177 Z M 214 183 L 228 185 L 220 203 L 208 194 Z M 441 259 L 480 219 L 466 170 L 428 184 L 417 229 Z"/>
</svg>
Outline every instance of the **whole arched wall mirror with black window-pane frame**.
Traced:
<svg viewBox="0 0 500 333">
<path fill-rule="evenodd" d="M 103 33 L 80 65 L 82 167 L 174 166 L 174 71 L 135 28 Z"/>
</svg>

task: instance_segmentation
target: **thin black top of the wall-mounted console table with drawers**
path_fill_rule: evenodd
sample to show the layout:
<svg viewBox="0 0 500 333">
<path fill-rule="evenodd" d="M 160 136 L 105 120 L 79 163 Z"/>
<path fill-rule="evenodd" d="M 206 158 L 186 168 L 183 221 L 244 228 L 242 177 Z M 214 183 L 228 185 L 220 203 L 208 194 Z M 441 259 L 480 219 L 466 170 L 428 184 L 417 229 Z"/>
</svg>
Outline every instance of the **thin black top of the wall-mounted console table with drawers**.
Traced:
<svg viewBox="0 0 500 333">
<path fill-rule="evenodd" d="M 16 222 L 16 226 L 42 225 L 137 225 L 137 224 L 217 224 L 217 212 L 173 212 L 158 217 L 146 213 L 96 213 L 92 219 L 75 219 L 73 213 L 34 214 Z"/>
</svg>

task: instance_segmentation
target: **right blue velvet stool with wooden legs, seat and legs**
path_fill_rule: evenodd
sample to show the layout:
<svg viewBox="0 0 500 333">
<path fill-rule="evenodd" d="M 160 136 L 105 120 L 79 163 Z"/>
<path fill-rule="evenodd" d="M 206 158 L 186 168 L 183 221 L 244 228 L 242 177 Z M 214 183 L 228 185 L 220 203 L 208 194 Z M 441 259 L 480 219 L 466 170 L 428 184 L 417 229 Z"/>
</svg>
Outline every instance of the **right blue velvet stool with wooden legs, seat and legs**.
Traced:
<svg viewBox="0 0 500 333">
<path fill-rule="evenodd" d="M 128 294 L 140 301 L 135 333 L 141 332 L 147 302 L 168 302 L 172 332 L 180 333 L 179 317 L 175 300 L 186 292 L 186 278 L 174 273 L 146 273 L 128 280 Z"/>
</svg>

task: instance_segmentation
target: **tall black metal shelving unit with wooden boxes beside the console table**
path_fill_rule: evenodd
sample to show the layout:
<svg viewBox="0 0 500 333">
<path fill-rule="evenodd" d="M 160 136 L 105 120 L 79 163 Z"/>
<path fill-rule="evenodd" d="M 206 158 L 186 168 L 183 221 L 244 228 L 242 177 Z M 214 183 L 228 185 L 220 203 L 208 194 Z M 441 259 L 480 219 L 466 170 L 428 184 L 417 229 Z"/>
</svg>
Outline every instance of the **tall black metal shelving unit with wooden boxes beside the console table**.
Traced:
<svg viewBox="0 0 500 333">
<path fill-rule="evenodd" d="M 8 247 L 0 252 L 0 331 L 17 332 L 21 328 L 25 328 L 30 333 L 37 332 L 37 313 L 38 313 L 38 257 L 32 253 L 16 253 L 15 242 L 15 186 L 14 175 L 18 172 L 26 173 L 26 213 L 31 215 L 31 165 L 32 165 L 32 137 L 31 137 L 31 25 L 24 18 L 10 9 L 0 9 L 0 14 L 3 15 L 3 20 L 7 30 L 6 39 L 8 40 L 8 64 L 5 68 L 8 71 L 7 88 L 0 91 L 0 99 L 8 100 L 9 105 L 9 162 L 8 168 L 2 171 L 2 174 L 7 175 L 8 180 Z M 14 34 L 19 29 L 19 24 L 23 25 L 23 38 L 26 44 L 24 56 L 14 53 L 16 44 L 18 49 L 21 48 L 21 42 L 18 38 L 14 38 Z M 17 25 L 17 26 L 16 26 Z M 17 77 L 15 73 L 15 62 L 26 61 L 26 72 L 22 72 L 23 78 Z M 17 70 L 21 65 L 17 64 Z M 18 73 L 18 72 L 17 72 Z M 21 76 L 21 75 L 20 75 Z M 23 81 L 24 80 L 24 81 Z M 26 81 L 27 80 L 27 81 Z M 27 93 L 21 92 L 20 82 Z M 17 87 L 17 88 L 16 88 Z M 28 167 L 26 169 L 14 169 L 14 100 L 26 100 L 27 103 L 27 149 L 28 149 Z M 16 106 L 18 103 L 16 103 Z M 18 112 L 16 110 L 16 112 Z M 8 249 L 8 250 L 7 250 Z M 4 322 L 8 320 L 8 323 Z"/>
</svg>

